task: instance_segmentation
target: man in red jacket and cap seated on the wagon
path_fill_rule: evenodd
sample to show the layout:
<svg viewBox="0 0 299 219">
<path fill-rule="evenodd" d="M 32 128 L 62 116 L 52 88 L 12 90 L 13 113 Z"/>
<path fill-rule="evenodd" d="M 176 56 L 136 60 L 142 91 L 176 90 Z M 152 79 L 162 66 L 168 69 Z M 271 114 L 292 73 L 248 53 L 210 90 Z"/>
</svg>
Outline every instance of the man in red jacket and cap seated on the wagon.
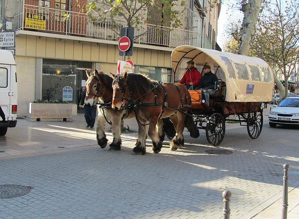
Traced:
<svg viewBox="0 0 299 219">
<path fill-rule="evenodd" d="M 189 60 L 187 61 L 187 64 L 187 69 L 183 75 L 183 78 L 180 81 L 180 84 L 185 85 L 186 88 L 189 90 L 193 90 L 201 83 L 202 76 L 201 73 L 197 70 L 197 68 L 194 67 L 194 61 Z"/>
</svg>

